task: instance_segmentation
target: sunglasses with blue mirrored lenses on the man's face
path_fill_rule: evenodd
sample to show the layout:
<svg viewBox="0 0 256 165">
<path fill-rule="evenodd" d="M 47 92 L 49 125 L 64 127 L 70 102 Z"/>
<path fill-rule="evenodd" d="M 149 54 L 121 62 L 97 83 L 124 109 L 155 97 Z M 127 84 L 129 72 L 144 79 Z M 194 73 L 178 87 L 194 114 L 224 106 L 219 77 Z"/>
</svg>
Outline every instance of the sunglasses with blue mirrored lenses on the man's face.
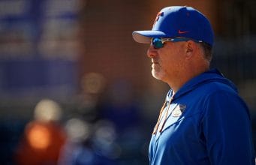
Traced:
<svg viewBox="0 0 256 165">
<path fill-rule="evenodd" d="M 188 37 L 175 37 L 175 38 L 161 38 L 161 37 L 152 37 L 151 44 L 154 46 L 155 49 L 160 49 L 164 47 L 164 43 L 167 41 L 170 42 L 181 42 L 181 41 L 188 41 L 188 40 L 194 40 Z M 194 40 L 194 42 L 201 43 L 202 40 Z"/>
</svg>

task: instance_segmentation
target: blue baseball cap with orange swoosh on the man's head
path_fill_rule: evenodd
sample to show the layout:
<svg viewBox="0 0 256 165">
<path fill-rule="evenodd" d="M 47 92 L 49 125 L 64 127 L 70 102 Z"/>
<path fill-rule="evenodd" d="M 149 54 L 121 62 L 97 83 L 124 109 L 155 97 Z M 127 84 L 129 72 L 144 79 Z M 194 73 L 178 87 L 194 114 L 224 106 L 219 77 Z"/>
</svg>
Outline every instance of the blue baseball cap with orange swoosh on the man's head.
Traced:
<svg viewBox="0 0 256 165">
<path fill-rule="evenodd" d="M 156 16 L 152 30 L 134 31 L 138 43 L 150 43 L 152 37 L 188 37 L 213 44 L 213 31 L 209 20 L 193 7 L 164 7 Z"/>
</svg>

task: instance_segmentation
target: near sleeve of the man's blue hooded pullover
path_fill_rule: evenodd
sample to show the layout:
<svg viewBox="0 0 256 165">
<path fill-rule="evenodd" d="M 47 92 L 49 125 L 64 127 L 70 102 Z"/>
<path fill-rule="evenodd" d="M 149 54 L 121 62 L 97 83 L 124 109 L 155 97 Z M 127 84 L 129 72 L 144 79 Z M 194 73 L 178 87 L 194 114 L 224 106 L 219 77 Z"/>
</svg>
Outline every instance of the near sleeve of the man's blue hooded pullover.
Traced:
<svg viewBox="0 0 256 165">
<path fill-rule="evenodd" d="M 254 163 L 248 108 L 235 93 L 215 92 L 206 98 L 203 136 L 211 164 Z"/>
</svg>

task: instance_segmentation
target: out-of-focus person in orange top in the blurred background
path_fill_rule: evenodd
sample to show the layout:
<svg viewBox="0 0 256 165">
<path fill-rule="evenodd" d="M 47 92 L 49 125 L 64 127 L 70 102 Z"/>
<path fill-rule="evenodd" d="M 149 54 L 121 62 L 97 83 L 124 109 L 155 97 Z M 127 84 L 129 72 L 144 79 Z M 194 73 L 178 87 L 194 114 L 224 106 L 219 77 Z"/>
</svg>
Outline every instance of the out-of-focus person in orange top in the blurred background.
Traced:
<svg viewBox="0 0 256 165">
<path fill-rule="evenodd" d="M 15 160 L 19 165 L 57 164 L 66 135 L 59 124 L 59 104 L 42 100 L 35 107 L 35 120 L 26 125 Z"/>
</svg>

